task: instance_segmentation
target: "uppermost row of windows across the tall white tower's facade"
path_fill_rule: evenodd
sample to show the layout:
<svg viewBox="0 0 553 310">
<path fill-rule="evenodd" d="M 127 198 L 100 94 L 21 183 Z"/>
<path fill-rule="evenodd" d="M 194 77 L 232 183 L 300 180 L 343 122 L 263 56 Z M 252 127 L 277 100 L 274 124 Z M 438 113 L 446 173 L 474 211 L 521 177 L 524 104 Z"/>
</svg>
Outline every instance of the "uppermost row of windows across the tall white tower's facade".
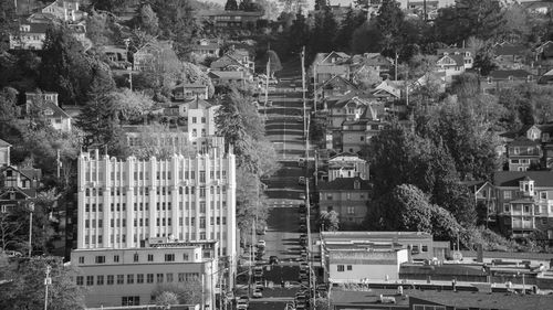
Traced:
<svg viewBox="0 0 553 310">
<path fill-rule="evenodd" d="M 90 169 L 86 169 L 86 174 L 85 174 L 85 179 L 86 180 L 91 180 L 91 175 L 95 174 L 94 171 L 92 171 L 92 174 L 91 174 L 91 170 Z M 199 180 L 200 182 L 205 183 L 206 182 L 206 171 L 200 171 L 198 173 L 199 175 Z M 114 180 L 121 180 L 121 179 L 126 179 L 127 177 L 127 173 L 126 171 L 112 171 L 109 173 L 109 180 L 114 181 Z M 133 180 L 149 180 L 149 171 L 135 171 L 133 173 Z M 156 172 L 156 180 L 171 180 L 171 177 L 173 177 L 173 173 L 171 171 L 157 171 Z M 219 179 L 227 179 L 227 170 L 210 170 L 209 171 L 209 179 L 213 180 L 219 180 Z M 104 179 L 104 173 L 103 171 L 100 171 L 98 172 L 98 180 L 103 180 Z M 178 180 L 196 180 L 196 171 L 191 170 L 191 171 L 182 171 L 180 170 L 178 172 Z"/>
</svg>

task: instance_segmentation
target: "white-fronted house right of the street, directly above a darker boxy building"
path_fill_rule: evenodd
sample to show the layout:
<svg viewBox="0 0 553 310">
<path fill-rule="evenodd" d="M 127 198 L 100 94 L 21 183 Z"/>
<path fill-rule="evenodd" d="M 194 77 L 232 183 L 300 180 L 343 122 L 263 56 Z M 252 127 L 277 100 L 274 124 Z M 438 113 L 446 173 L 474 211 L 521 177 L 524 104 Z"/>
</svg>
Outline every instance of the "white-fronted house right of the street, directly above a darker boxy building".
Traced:
<svg viewBox="0 0 553 310">
<path fill-rule="evenodd" d="M 368 180 L 368 162 L 357 154 L 349 152 L 338 153 L 328 159 L 328 181 L 338 178 L 355 178 Z"/>
</svg>

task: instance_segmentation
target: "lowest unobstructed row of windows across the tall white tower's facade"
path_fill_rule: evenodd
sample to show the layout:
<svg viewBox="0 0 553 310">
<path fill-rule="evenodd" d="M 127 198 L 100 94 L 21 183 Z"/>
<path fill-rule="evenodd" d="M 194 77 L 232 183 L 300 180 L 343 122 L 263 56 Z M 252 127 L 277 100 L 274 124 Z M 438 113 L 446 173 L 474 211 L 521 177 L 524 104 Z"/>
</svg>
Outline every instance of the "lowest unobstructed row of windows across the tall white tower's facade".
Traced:
<svg viewBox="0 0 553 310">
<path fill-rule="evenodd" d="M 144 220 L 144 221 L 143 221 Z M 167 220 L 167 221 L 166 221 Z M 156 218 L 156 226 L 171 226 L 173 225 L 173 218 Z M 178 218 L 179 226 L 187 225 L 187 226 L 195 226 L 196 225 L 196 217 L 179 217 Z M 211 216 L 211 221 L 209 222 L 211 226 L 213 225 L 227 225 L 227 216 Z M 186 222 L 185 222 L 186 221 Z M 112 218 L 109 221 L 109 226 L 113 227 L 126 227 L 127 226 L 127 220 L 126 218 Z M 97 226 L 96 226 L 97 224 Z M 96 220 L 85 220 L 84 221 L 84 227 L 85 228 L 102 228 L 104 224 L 104 221 L 102 218 Z M 199 224 L 200 228 L 206 228 L 206 217 L 201 216 L 199 217 Z M 149 218 L 135 218 L 134 220 L 134 227 L 147 227 L 149 226 Z"/>
</svg>

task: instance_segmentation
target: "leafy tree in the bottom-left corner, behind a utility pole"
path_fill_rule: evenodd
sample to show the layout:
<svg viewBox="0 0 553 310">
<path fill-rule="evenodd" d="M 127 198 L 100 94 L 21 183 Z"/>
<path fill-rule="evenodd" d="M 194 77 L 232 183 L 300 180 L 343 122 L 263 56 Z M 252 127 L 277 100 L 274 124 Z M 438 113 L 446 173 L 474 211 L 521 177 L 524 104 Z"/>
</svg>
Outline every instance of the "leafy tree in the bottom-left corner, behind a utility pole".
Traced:
<svg viewBox="0 0 553 310">
<path fill-rule="evenodd" d="M 48 289 L 48 306 L 53 310 L 85 309 L 84 290 L 75 285 L 79 274 L 62 257 L 33 256 L 9 265 L 9 286 L 0 286 L 1 309 L 42 309 L 44 307 L 44 271 L 50 266 L 52 284 Z"/>
</svg>

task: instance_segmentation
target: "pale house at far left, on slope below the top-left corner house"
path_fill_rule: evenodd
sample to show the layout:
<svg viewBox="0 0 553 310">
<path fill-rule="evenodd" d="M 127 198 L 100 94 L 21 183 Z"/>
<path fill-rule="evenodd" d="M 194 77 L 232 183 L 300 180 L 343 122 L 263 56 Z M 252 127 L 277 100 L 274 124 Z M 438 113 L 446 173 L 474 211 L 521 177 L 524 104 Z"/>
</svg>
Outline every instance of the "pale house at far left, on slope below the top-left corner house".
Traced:
<svg viewBox="0 0 553 310">
<path fill-rule="evenodd" d="M 42 50 L 49 26 L 49 23 L 22 21 L 19 31 L 10 34 L 10 50 Z"/>
</svg>

